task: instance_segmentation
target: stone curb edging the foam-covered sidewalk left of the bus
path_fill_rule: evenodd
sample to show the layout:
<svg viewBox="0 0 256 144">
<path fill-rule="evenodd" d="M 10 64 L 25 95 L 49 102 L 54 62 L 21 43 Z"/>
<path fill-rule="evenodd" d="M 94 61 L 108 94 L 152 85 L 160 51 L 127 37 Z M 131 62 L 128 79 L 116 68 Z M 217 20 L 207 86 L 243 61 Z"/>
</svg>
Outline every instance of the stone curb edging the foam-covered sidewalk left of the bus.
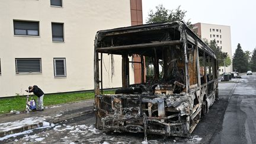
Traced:
<svg viewBox="0 0 256 144">
<path fill-rule="evenodd" d="M 53 120 L 46 120 L 46 122 L 59 123 L 60 121 L 73 119 L 75 117 L 84 116 L 86 114 L 93 113 L 93 112 L 94 112 L 93 110 L 86 110 L 86 111 L 82 111 L 82 112 L 78 112 L 78 113 L 67 114 L 68 116 L 57 117 L 56 119 L 53 119 Z M 5 131 L 5 132 L 0 132 L 0 137 L 4 137 L 6 135 L 10 135 L 10 134 L 13 134 L 13 133 L 20 133 L 20 132 L 23 132 L 25 130 L 36 129 L 36 128 L 42 127 L 42 126 L 43 126 L 43 122 L 25 125 L 23 127 L 17 128 L 17 129 L 12 129 L 12 130 L 8 130 L 8 131 Z"/>
</svg>

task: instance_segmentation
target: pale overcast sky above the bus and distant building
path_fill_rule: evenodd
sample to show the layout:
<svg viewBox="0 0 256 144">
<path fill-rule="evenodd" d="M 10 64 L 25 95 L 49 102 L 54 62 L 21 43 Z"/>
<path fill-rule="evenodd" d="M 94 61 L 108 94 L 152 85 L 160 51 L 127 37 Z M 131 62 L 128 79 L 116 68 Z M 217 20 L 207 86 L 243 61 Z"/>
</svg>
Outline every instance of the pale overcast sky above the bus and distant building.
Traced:
<svg viewBox="0 0 256 144">
<path fill-rule="evenodd" d="M 166 9 L 187 11 L 185 21 L 231 26 L 232 53 L 238 43 L 252 52 L 256 47 L 256 0 L 142 0 L 143 23 L 150 9 L 162 4 Z"/>
</svg>

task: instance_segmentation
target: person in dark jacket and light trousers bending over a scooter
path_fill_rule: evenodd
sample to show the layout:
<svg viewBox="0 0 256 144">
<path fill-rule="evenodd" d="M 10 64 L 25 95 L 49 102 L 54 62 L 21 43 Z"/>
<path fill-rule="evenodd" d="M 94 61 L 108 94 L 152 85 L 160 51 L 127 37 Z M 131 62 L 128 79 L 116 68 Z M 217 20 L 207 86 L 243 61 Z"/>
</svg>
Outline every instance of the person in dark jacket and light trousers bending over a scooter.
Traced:
<svg viewBox="0 0 256 144">
<path fill-rule="evenodd" d="M 43 97 L 44 97 L 44 92 L 37 87 L 37 85 L 30 86 L 28 87 L 28 90 L 25 90 L 27 92 L 33 92 L 34 95 L 36 95 L 37 98 L 37 110 L 43 111 Z"/>
</svg>

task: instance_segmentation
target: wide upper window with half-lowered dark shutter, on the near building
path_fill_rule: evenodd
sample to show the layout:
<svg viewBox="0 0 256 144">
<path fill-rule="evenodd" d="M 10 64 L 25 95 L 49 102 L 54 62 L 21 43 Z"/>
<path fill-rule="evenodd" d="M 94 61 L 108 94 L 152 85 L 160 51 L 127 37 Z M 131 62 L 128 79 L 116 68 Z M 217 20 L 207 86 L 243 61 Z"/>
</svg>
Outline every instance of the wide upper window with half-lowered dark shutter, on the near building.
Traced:
<svg viewBox="0 0 256 144">
<path fill-rule="evenodd" d="M 39 22 L 14 20 L 14 35 L 39 36 Z"/>
</svg>

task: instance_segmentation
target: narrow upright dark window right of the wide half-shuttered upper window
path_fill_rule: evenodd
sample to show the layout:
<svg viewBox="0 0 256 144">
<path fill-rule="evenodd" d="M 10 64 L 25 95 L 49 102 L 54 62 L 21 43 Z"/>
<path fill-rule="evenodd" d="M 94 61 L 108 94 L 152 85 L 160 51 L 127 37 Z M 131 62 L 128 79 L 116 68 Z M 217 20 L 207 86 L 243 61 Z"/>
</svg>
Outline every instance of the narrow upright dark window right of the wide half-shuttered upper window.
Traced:
<svg viewBox="0 0 256 144">
<path fill-rule="evenodd" d="M 52 23 L 52 41 L 64 41 L 63 23 Z"/>
</svg>

